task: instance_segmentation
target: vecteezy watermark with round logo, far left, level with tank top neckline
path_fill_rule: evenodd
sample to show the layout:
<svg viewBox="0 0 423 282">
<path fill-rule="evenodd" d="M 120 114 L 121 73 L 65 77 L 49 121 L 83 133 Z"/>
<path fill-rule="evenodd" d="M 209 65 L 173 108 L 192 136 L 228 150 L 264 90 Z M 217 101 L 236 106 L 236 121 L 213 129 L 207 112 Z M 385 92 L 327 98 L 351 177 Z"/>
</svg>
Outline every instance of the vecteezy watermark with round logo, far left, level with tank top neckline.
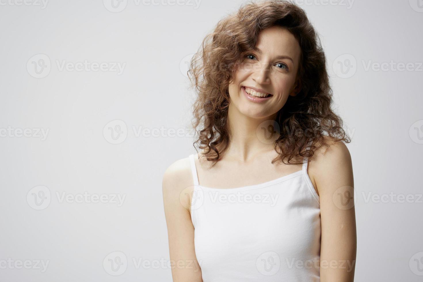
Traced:
<svg viewBox="0 0 423 282">
<path fill-rule="evenodd" d="M 121 207 L 125 201 L 126 194 L 89 194 L 84 193 L 71 194 L 67 192 L 55 192 L 58 203 L 103 203 L 116 204 Z M 35 210 L 44 210 L 51 203 L 52 194 L 50 190 L 43 185 L 35 186 L 27 193 L 27 203 Z"/>
</svg>

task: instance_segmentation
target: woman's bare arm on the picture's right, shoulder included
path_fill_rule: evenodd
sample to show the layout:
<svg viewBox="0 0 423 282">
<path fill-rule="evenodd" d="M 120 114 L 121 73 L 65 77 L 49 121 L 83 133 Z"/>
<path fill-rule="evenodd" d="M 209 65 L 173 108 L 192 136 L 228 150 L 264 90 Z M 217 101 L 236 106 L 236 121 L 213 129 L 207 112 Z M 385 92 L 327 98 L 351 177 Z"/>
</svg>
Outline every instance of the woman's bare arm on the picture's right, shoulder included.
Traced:
<svg viewBox="0 0 423 282">
<path fill-rule="evenodd" d="M 353 282 L 357 233 L 351 156 L 343 142 L 323 150 L 324 154 L 316 152 L 316 162 L 310 168 L 320 197 L 320 279 Z"/>
</svg>

